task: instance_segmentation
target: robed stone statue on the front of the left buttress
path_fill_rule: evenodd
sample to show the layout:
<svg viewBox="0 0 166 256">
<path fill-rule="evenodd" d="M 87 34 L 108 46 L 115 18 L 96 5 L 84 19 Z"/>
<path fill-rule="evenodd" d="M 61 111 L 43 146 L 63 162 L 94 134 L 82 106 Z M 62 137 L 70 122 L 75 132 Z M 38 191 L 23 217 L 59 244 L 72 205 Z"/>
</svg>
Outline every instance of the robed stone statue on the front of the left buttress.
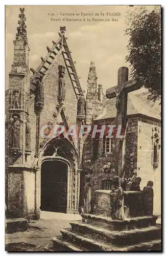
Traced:
<svg viewBox="0 0 166 256">
<path fill-rule="evenodd" d="M 19 148 L 19 137 L 20 137 L 20 123 L 18 117 L 12 118 L 12 147 Z"/>
</svg>

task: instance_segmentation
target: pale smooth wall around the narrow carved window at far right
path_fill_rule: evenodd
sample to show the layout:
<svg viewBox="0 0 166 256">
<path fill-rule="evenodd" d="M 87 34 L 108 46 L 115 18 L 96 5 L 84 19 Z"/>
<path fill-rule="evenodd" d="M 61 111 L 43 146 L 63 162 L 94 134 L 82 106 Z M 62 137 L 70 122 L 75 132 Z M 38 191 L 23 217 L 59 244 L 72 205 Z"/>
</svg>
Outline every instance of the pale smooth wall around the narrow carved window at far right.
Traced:
<svg viewBox="0 0 166 256">
<path fill-rule="evenodd" d="M 137 176 L 142 180 L 141 189 L 149 180 L 153 181 L 154 214 L 161 214 L 161 152 L 159 152 L 159 166 L 154 169 L 152 164 L 152 129 L 158 127 L 161 135 L 160 124 L 153 121 L 140 119 L 138 121 L 138 155 Z M 161 137 L 161 136 L 160 136 Z"/>
</svg>

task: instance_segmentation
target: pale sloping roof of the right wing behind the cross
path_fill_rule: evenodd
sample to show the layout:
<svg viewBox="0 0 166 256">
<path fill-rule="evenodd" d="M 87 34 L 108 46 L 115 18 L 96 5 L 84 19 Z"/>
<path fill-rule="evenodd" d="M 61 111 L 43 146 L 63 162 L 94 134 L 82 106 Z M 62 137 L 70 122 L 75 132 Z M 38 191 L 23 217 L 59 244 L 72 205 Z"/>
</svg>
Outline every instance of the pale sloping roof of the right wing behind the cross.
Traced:
<svg viewBox="0 0 166 256">
<path fill-rule="evenodd" d="M 151 100 L 147 100 L 147 97 L 147 92 L 137 95 L 129 93 L 127 102 L 127 115 L 143 114 L 145 116 L 153 117 L 160 120 L 161 117 L 159 101 L 156 101 L 154 103 Z M 104 106 L 103 113 L 96 117 L 95 120 L 116 117 L 115 101 L 115 98 L 107 100 Z"/>
</svg>

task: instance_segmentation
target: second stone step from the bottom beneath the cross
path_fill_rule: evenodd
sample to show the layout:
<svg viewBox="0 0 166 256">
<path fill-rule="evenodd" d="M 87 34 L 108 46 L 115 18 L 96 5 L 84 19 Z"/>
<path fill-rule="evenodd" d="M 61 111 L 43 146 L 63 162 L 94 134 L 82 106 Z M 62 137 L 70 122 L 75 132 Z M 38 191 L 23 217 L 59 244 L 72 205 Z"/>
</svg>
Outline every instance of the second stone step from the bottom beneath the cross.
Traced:
<svg viewBox="0 0 166 256">
<path fill-rule="evenodd" d="M 148 240 L 160 239 L 161 231 L 158 227 L 146 227 L 123 231 L 112 231 L 102 227 L 92 226 L 81 221 L 70 222 L 72 231 L 86 238 L 112 245 L 131 245 Z"/>
</svg>

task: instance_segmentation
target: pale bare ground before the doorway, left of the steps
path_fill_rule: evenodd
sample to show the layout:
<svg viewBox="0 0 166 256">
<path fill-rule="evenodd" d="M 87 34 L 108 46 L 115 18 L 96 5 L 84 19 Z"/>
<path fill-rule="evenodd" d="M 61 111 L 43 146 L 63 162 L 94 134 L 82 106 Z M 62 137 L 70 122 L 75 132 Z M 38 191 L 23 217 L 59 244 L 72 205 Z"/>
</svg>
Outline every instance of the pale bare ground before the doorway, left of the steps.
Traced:
<svg viewBox="0 0 166 256">
<path fill-rule="evenodd" d="M 60 236 L 62 228 L 70 227 L 72 220 L 81 220 L 80 215 L 42 211 L 40 220 L 31 221 L 24 232 L 6 234 L 7 251 L 43 251 L 53 237 Z"/>
</svg>

